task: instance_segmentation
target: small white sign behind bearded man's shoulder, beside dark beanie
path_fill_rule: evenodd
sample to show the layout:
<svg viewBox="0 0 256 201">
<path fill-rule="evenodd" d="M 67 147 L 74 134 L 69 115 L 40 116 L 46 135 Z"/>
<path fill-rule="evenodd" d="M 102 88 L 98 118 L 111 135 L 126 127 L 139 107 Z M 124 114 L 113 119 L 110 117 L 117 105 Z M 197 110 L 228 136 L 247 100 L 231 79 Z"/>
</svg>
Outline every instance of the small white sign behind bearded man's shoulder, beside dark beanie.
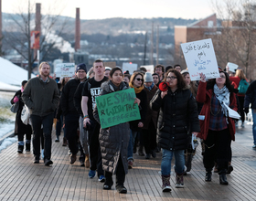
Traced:
<svg viewBox="0 0 256 201">
<path fill-rule="evenodd" d="M 55 74 L 58 78 L 72 77 L 75 74 L 74 63 L 60 63 L 56 65 Z"/>
</svg>

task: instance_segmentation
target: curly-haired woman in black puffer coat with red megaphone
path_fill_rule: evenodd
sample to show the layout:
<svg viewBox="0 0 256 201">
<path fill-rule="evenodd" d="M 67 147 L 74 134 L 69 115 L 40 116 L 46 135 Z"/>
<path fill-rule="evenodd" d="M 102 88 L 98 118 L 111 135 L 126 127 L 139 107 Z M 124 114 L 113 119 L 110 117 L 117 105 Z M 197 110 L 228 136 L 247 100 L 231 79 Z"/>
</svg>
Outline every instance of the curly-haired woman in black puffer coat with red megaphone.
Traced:
<svg viewBox="0 0 256 201">
<path fill-rule="evenodd" d="M 171 162 L 176 158 L 176 188 L 183 188 L 186 172 L 184 150 L 189 143 L 189 134 L 199 132 L 197 102 L 187 88 L 185 79 L 176 69 L 169 69 L 164 81 L 168 88 L 157 90 L 150 101 L 153 111 L 159 111 L 157 123 L 157 143 L 162 148 L 162 189 L 170 192 Z M 160 88 L 159 88 L 160 89 Z M 188 131 L 190 128 L 190 132 Z"/>
</svg>

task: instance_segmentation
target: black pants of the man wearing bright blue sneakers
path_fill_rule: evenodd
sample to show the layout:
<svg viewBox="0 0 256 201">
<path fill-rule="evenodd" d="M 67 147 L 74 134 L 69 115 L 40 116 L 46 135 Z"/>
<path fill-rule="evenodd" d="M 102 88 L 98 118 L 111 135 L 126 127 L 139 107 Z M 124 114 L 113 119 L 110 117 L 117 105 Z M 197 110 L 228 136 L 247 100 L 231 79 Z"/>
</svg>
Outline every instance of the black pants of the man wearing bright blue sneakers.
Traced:
<svg viewBox="0 0 256 201">
<path fill-rule="evenodd" d="M 89 155 L 91 170 L 97 170 L 98 177 L 104 175 L 102 169 L 102 159 L 101 159 L 101 147 L 99 143 L 99 133 L 101 125 L 98 122 L 94 122 L 94 126 L 91 131 L 88 131 L 88 143 L 89 143 Z"/>
</svg>

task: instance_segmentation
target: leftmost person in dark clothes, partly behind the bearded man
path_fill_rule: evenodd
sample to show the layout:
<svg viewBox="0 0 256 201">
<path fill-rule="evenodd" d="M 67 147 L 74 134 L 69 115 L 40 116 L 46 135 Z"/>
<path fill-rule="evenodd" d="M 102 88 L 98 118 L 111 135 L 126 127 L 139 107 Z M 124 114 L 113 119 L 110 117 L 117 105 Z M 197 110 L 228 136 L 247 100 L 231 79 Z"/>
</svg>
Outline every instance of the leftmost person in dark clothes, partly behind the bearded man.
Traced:
<svg viewBox="0 0 256 201">
<path fill-rule="evenodd" d="M 26 134 L 26 152 L 30 152 L 31 147 L 31 134 L 32 129 L 30 124 L 24 124 L 21 121 L 21 111 L 24 106 L 24 102 L 21 98 L 22 93 L 27 85 L 27 80 L 22 81 L 21 90 L 16 91 L 14 98 L 11 100 L 11 103 L 14 104 L 19 102 L 18 111 L 16 112 L 16 127 L 15 134 L 17 135 L 17 153 L 23 153 L 24 150 L 24 134 Z"/>
</svg>

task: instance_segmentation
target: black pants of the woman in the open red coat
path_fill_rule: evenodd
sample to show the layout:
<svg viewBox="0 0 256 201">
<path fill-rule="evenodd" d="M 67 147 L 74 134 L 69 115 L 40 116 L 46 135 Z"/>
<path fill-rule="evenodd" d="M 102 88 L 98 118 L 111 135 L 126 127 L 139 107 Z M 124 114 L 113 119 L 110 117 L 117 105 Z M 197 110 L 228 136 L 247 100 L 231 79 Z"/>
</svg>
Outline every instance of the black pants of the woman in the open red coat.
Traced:
<svg viewBox="0 0 256 201">
<path fill-rule="evenodd" d="M 219 173 L 226 172 L 231 154 L 231 136 L 229 129 L 219 132 L 208 130 L 208 137 L 204 143 L 205 153 L 203 162 L 206 171 L 211 171 L 216 161 Z"/>
</svg>

